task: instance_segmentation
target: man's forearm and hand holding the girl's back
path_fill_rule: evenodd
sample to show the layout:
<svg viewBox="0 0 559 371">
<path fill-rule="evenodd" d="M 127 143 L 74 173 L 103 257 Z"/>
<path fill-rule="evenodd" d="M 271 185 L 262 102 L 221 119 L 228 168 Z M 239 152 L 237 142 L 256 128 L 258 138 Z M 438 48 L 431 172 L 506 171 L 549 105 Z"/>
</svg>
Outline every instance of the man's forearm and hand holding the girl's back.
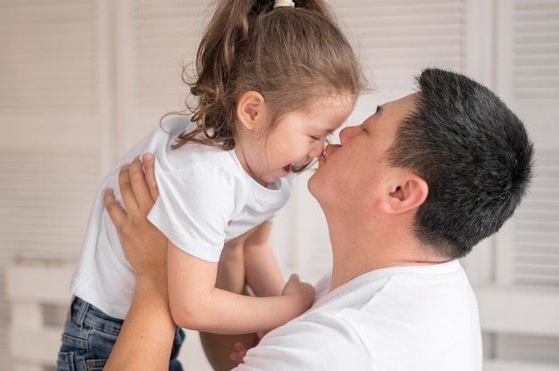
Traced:
<svg viewBox="0 0 559 371">
<path fill-rule="evenodd" d="M 119 175 L 127 212 L 114 200 L 111 190 L 104 194 L 105 207 L 136 274 L 134 297 L 121 334 L 104 367 L 107 371 L 169 369 L 176 327 L 167 297 L 167 239 L 146 218 L 157 198 L 157 187 L 153 156 L 144 156 L 143 161 L 147 180 L 138 158 L 129 167 L 123 167 Z"/>
</svg>

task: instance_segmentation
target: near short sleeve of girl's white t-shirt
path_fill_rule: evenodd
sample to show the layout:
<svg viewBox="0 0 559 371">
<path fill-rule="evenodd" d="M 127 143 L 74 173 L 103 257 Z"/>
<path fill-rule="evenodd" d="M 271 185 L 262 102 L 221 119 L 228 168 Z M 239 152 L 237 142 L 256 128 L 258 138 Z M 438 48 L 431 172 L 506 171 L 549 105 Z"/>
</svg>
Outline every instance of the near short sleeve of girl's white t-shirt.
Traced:
<svg viewBox="0 0 559 371">
<path fill-rule="evenodd" d="M 148 219 L 182 251 L 217 262 L 235 209 L 234 179 L 204 165 L 171 171 L 156 166 L 159 197 Z"/>
</svg>

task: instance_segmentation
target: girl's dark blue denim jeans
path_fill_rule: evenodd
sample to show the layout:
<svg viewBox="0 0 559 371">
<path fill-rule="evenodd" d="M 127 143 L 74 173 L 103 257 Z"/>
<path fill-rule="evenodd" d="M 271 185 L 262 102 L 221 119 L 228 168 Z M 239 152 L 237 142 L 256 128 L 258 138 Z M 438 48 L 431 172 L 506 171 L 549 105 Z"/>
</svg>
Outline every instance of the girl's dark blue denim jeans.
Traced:
<svg viewBox="0 0 559 371">
<path fill-rule="evenodd" d="M 122 320 L 104 314 L 87 301 L 74 298 L 64 325 L 63 343 L 58 352 L 58 371 L 101 371 L 121 332 Z M 182 371 L 177 358 L 185 334 L 177 327 L 170 371 Z"/>
</svg>

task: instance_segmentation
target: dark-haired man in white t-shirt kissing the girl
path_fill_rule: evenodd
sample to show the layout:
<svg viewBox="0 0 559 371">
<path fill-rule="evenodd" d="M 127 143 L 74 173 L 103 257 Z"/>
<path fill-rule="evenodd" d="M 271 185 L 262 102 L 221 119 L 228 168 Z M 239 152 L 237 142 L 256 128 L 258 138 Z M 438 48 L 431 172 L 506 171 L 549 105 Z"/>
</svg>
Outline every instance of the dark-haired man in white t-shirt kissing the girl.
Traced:
<svg viewBox="0 0 559 371">
<path fill-rule="evenodd" d="M 428 69 L 418 87 L 326 148 L 308 187 L 328 222 L 331 275 L 317 284 L 313 307 L 266 334 L 238 370 L 481 369 L 477 303 L 456 259 L 511 217 L 530 183 L 533 148 L 521 120 L 471 79 Z M 138 169 L 130 176 L 143 176 Z M 130 195 L 127 176 L 122 192 L 140 205 L 141 221 L 152 201 L 141 200 L 141 178 L 131 180 L 139 201 Z M 127 239 L 146 227 L 110 194 L 106 202 L 127 254 L 140 260 L 146 243 Z M 143 276 L 148 265 L 134 261 Z M 148 306 L 133 308 L 132 316 Z"/>
</svg>

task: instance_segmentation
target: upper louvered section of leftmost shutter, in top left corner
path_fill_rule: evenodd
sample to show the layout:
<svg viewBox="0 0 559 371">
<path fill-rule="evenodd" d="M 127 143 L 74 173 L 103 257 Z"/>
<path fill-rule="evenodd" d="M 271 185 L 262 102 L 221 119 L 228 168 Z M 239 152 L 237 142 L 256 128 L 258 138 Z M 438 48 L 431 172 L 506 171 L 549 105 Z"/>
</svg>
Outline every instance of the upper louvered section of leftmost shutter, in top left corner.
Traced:
<svg viewBox="0 0 559 371">
<path fill-rule="evenodd" d="M 0 110 L 94 110 L 96 2 L 0 2 Z"/>
</svg>

